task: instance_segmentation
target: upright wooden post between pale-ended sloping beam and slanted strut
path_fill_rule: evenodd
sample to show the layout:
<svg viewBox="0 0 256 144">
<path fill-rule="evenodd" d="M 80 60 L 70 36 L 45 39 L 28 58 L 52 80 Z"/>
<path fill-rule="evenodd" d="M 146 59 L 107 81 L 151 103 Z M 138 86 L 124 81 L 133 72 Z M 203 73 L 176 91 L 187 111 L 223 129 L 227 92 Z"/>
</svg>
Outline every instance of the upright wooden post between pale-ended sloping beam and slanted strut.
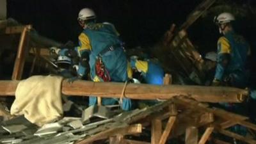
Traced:
<svg viewBox="0 0 256 144">
<path fill-rule="evenodd" d="M 162 135 L 162 120 L 154 119 L 151 124 L 151 143 L 158 144 Z"/>
</svg>

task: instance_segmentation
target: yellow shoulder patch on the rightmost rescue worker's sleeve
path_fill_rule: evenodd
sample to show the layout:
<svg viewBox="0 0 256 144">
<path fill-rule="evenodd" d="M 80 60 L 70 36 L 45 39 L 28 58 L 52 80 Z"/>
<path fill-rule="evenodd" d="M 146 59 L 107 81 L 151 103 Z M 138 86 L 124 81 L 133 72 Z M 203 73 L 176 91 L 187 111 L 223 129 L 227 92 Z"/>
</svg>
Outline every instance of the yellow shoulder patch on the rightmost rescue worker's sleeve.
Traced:
<svg viewBox="0 0 256 144">
<path fill-rule="evenodd" d="M 228 53 L 230 54 L 231 52 L 231 47 L 230 44 L 227 40 L 227 38 L 225 38 L 224 36 L 221 36 L 218 40 L 218 54 L 221 53 Z"/>
</svg>

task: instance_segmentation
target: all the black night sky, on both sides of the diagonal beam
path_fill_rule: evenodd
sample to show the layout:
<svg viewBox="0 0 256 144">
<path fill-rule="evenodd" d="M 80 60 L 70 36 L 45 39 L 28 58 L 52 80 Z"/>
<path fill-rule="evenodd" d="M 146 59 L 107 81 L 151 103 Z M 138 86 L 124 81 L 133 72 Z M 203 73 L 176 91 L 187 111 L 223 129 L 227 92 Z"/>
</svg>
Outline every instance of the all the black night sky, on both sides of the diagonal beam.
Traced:
<svg viewBox="0 0 256 144">
<path fill-rule="evenodd" d="M 218 1 L 212 7 L 218 7 L 223 1 Z M 238 14 L 240 9 L 241 12 L 242 9 L 247 10 L 243 7 L 248 3 L 256 8 L 253 0 L 225 1 L 236 4 Z M 95 11 L 99 22 L 115 24 L 128 48 L 138 45 L 148 47 L 161 40 L 172 23 L 179 27 L 201 2 L 202 0 L 8 0 L 7 14 L 22 24 L 32 24 L 40 35 L 63 43 L 71 40 L 77 44 L 77 36 L 82 30 L 77 23 L 77 14 L 81 8 L 88 7 Z M 216 42 L 220 36 L 212 20 L 214 15 L 221 12 L 218 8 L 211 9 L 188 29 L 189 38 L 203 55 L 208 51 L 216 51 Z M 256 17 L 255 13 L 244 13 L 237 17 L 240 24 L 237 31 L 252 45 L 253 57 L 250 61 L 254 63 Z M 255 69 L 253 65 L 251 67 Z"/>
</svg>

